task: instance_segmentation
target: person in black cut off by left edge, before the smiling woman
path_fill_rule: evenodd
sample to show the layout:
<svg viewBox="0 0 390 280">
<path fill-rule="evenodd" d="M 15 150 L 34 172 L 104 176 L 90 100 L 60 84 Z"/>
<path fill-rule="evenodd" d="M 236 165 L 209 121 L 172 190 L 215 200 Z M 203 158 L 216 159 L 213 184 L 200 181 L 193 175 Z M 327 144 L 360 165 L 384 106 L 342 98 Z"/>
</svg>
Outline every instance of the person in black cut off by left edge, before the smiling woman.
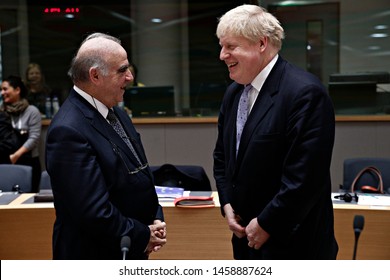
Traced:
<svg viewBox="0 0 390 280">
<path fill-rule="evenodd" d="M 10 154 L 19 148 L 18 138 L 11 124 L 8 114 L 0 108 L 0 164 L 10 164 Z"/>
</svg>

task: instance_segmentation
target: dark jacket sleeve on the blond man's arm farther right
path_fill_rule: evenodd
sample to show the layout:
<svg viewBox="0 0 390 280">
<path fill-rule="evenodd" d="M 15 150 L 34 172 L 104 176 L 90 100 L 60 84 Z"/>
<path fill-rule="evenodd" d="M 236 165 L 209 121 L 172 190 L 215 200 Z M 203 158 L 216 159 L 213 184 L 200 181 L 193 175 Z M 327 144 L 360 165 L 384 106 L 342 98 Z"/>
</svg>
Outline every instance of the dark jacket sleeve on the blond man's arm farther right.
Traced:
<svg viewBox="0 0 390 280">
<path fill-rule="evenodd" d="M 271 234 L 297 230 L 316 205 L 330 199 L 335 134 L 330 98 L 314 84 L 301 88 L 290 102 L 281 187 L 258 216 L 259 224 Z"/>
</svg>

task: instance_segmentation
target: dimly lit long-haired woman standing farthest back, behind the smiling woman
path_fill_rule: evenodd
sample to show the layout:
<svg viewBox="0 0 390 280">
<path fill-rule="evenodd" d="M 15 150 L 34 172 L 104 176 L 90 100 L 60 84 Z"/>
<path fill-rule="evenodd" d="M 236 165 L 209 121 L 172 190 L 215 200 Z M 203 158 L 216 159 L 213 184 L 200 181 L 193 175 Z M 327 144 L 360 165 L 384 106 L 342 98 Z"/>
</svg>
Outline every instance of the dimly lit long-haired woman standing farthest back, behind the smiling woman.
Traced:
<svg viewBox="0 0 390 280">
<path fill-rule="evenodd" d="M 52 90 L 46 84 L 41 66 L 37 63 L 30 63 L 26 69 L 25 79 L 28 102 L 36 106 L 42 115 L 46 115 L 46 98 L 51 97 Z"/>
</svg>

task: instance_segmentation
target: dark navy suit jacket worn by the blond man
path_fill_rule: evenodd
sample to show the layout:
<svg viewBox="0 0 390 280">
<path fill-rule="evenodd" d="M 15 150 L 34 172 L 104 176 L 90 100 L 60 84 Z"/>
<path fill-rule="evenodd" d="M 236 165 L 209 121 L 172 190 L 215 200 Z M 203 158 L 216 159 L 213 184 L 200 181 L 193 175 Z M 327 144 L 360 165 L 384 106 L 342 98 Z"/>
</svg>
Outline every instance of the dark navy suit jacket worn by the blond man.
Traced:
<svg viewBox="0 0 390 280">
<path fill-rule="evenodd" d="M 233 238 L 236 258 L 333 259 L 330 163 L 332 102 L 313 75 L 279 57 L 248 116 L 236 158 L 236 116 L 243 86 L 225 93 L 214 177 L 221 205 L 243 223 L 255 217 L 271 238 L 253 251 Z M 252 250 L 252 251 L 251 251 Z"/>
</svg>

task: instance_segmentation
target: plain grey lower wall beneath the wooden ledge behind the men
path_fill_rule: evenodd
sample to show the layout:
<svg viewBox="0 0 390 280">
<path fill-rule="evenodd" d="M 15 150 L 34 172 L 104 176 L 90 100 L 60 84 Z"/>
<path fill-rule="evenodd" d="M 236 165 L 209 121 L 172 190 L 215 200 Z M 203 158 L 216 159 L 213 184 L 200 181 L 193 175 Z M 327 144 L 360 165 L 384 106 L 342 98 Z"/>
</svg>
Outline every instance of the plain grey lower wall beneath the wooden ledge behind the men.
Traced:
<svg viewBox="0 0 390 280">
<path fill-rule="evenodd" d="M 141 134 L 150 165 L 171 163 L 203 166 L 212 188 L 215 189 L 212 154 L 217 139 L 216 123 L 135 126 Z M 46 130 L 45 126 L 40 143 L 42 163 Z M 336 122 L 336 139 L 331 164 L 334 192 L 339 190 L 339 185 L 343 182 L 344 160 L 352 157 L 390 157 L 390 122 Z"/>
</svg>

